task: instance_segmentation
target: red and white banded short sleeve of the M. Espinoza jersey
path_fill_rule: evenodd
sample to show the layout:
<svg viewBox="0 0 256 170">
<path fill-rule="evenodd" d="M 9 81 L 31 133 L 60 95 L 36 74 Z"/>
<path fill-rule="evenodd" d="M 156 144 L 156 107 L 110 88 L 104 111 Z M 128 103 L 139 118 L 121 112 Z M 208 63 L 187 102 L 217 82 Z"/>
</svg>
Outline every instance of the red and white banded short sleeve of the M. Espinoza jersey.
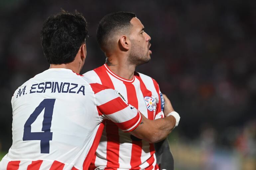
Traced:
<svg viewBox="0 0 256 170">
<path fill-rule="evenodd" d="M 123 132 L 131 132 L 139 126 L 141 113 L 128 104 L 117 90 L 97 83 L 90 85 L 95 94 L 98 113 L 103 119 L 111 120 Z"/>
</svg>

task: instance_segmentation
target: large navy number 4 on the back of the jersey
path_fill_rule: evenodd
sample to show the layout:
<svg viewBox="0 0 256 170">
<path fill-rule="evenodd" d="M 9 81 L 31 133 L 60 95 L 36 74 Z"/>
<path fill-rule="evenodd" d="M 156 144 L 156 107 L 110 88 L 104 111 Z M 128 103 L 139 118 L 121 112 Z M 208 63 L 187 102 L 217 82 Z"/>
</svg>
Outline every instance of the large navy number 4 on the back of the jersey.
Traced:
<svg viewBox="0 0 256 170">
<path fill-rule="evenodd" d="M 53 139 L 51 132 L 53 107 L 56 99 L 44 99 L 29 116 L 24 125 L 23 141 L 40 140 L 41 153 L 49 153 L 50 141 Z M 31 124 L 35 122 L 39 114 L 45 109 L 42 131 L 31 132 Z"/>
</svg>

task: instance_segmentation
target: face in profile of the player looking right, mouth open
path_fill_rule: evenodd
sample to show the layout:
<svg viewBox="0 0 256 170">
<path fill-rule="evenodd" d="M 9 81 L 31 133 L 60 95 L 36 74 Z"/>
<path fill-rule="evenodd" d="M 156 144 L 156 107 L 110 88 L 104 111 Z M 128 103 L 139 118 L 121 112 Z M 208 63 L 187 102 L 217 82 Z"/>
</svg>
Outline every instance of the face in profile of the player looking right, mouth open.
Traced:
<svg viewBox="0 0 256 170">
<path fill-rule="evenodd" d="M 135 65 L 141 65 L 150 61 L 150 55 L 152 54 L 149 50 L 151 44 L 151 37 L 144 32 L 144 26 L 138 18 L 133 18 L 131 21 L 133 25 L 130 32 L 131 49 L 128 61 Z"/>
</svg>

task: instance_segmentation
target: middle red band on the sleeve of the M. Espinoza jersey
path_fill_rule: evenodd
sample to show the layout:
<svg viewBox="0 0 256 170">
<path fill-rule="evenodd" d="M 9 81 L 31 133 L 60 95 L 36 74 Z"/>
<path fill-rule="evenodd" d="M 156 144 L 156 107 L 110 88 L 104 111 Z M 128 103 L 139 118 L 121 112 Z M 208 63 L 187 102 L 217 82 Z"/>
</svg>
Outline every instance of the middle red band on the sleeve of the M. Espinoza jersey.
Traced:
<svg viewBox="0 0 256 170">
<path fill-rule="evenodd" d="M 97 106 L 101 113 L 105 115 L 113 114 L 115 112 L 123 110 L 126 107 L 127 104 L 121 99 L 121 97 L 117 97 L 113 100 L 108 101 L 107 103 Z"/>
</svg>

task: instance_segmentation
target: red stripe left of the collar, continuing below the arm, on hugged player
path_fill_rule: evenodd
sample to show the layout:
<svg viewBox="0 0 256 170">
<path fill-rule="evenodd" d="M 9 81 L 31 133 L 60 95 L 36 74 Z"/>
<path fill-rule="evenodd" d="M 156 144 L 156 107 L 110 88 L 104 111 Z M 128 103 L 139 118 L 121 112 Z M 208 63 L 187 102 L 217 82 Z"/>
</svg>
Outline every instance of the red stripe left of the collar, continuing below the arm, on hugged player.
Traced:
<svg viewBox="0 0 256 170">
<path fill-rule="evenodd" d="M 94 69 L 99 76 L 101 84 L 113 88 L 114 85 L 107 74 L 105 66 Z M 113 170 L 119 168 L 119 133 L 118 127 L 111 121 L 106 120 L 106 136 L 107 136 L 107 166 L 105 169 L 112 167 Z"/>
</svg>

